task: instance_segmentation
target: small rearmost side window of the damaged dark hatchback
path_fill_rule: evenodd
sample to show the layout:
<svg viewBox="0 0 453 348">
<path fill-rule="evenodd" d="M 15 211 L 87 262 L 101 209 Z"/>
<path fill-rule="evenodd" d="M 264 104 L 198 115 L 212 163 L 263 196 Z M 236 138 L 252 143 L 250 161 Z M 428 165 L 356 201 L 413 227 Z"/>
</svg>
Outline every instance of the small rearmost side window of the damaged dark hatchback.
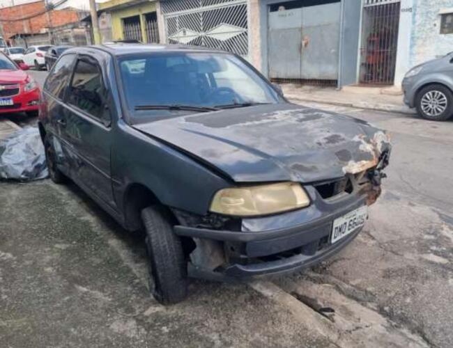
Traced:
<svg viewBox="0 0 453 348">
<path fill-rule="evenodd" d="M 67 56 L 61 57 L 61 59 L 54 65 L 49 77 L 47 77 L 44 89 L 54 95 L 54 97 L 63 99 L 71 77 L 71 68 L 74 60 L 75 54 L 68 54 Z"/>
</svg>

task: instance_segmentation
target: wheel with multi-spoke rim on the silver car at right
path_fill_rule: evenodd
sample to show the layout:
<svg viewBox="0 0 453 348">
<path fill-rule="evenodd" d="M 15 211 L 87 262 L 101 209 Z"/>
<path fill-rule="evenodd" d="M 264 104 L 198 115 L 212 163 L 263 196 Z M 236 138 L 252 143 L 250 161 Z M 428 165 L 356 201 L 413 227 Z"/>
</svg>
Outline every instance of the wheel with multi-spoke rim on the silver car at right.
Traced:
<svg viewBox="0 0 453 348">
<path fill-rule="evenodd" d="M 431 112 L 429 109 L 431 108 L 431 105 L 429 104 L 429 96 L 437 95 L 440 100 L 442 100 L 442 103 L 438 101 L 438 104 L 440 106 L 440 111 L 445 107 L 443 112 L 439 112 L 436 114 L 436 112 Z M 419 113 L 422 118 L 426 120 L 433 120 L 433 121 L 445 121 L 448 120 L 453 116 L 453 93 L 450 89 L 447 87 L 440 85 L 440 84 L 432 84 L 429 86 L 426 86 L 420 90 L 419 93 L 417 93 L 417 98 L 415 100 L 415 106 L 417 107 L 417 112 Z M 436 104 L 434 104 L 436 106 Z"/>
</svg>

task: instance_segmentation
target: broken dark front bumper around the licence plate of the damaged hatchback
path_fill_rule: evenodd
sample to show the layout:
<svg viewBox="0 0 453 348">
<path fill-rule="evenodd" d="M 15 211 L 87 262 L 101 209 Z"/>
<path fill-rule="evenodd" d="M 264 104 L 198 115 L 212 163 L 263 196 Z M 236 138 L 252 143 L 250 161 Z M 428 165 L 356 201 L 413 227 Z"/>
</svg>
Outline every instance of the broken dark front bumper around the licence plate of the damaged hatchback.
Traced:
<svg viewBox="0 0 453 348">
<path fill-rule="evenodd" d="M 224 242 L 227 246 L 234 245 L 236 249 L 240 249 L 240 258 L 230 258 L 232 262 L 215 271 L 222 276 L 250 278 L 286 274 L 330 258 L 349 244 L 362 228 L 331 244 L 333 221 L 365 204 L 366 198 L 362 197 L 342 205 L 330 214 L 322 214 L 317 219 L 262 232 L 208 230 L 185 226 L 175 226 L 174 232 L 179 236 Z"/>
</svg>

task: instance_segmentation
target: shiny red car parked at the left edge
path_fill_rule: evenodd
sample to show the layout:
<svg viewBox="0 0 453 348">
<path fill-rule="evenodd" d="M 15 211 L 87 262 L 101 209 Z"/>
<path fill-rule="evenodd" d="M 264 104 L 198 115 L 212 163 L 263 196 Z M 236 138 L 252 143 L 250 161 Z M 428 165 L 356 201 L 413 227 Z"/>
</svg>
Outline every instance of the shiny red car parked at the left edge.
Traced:
<svg viewBox="0 0 453 348">
<path fill-rule="evenodd" d="M 40 89 L 36 81 L 18 65 L 0 53 L 0 114 L 26 112 L 36 115 L 40 106 Z"/>
</svg>

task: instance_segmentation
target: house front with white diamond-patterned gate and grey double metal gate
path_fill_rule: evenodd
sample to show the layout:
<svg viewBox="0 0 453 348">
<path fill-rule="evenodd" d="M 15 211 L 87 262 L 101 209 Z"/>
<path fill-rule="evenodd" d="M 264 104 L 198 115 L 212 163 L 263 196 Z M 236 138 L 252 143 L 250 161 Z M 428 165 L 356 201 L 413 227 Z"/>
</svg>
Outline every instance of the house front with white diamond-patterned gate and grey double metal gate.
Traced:
<svg viewBox="0 0 453 348">
<path fill-rule="evenodd" d="M 361 0 L 161 0 L 164 42 L 224 49 L 275 81 L 357 79 Z"/>
</svg>

